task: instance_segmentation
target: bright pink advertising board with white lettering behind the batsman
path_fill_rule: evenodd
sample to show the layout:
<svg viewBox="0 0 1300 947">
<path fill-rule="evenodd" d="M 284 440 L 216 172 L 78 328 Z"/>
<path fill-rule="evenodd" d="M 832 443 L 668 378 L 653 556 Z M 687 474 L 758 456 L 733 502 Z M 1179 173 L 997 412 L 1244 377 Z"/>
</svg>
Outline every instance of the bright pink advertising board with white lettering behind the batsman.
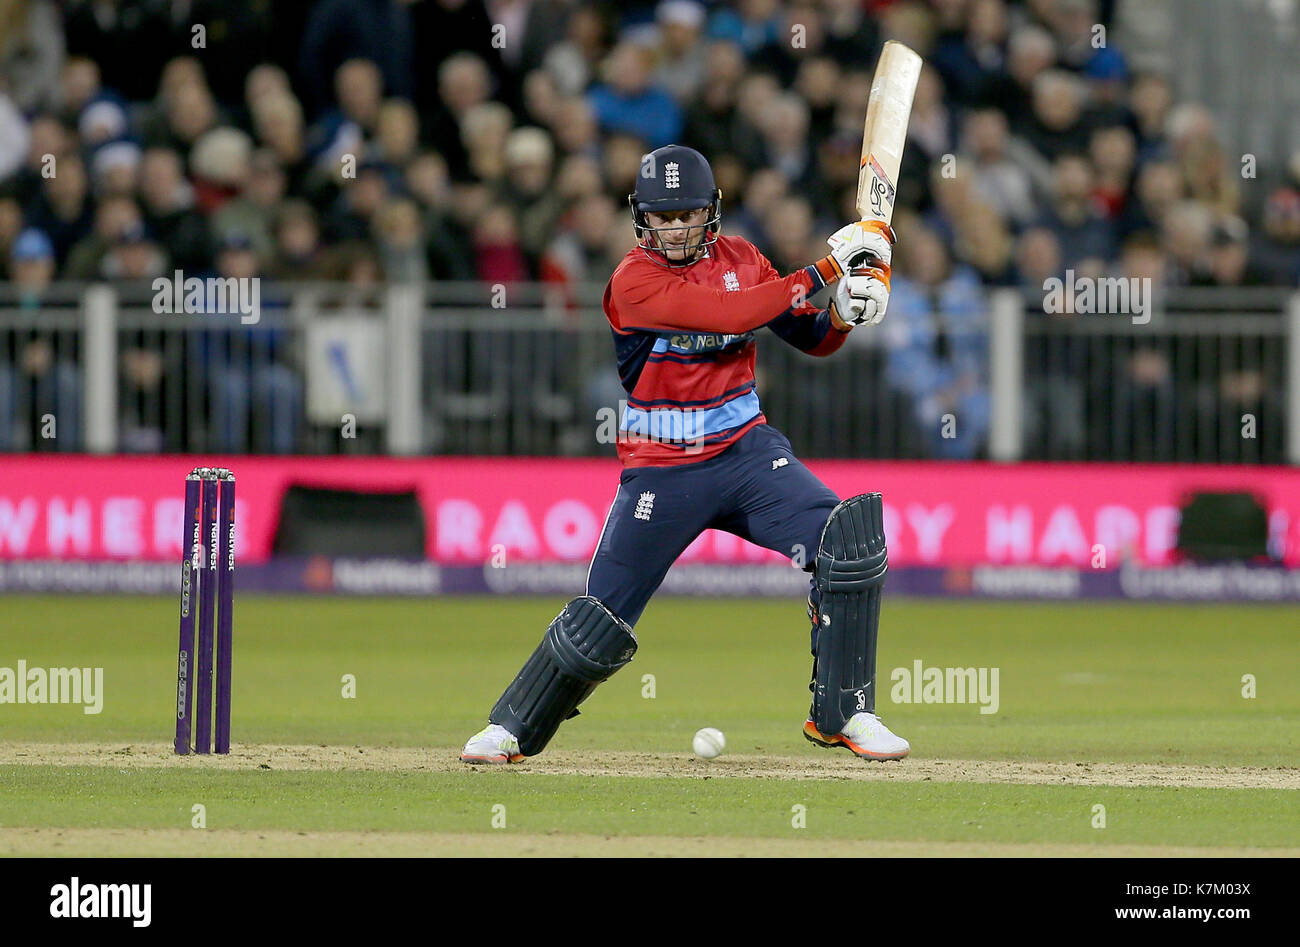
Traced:
<svg viewBox="0 0 1300 947">
<path fill-rule="evenodd" d="M 237 553 L 270 555 L 291 484 L 415 489 L 426 552 L 446 565 L 588 559 L 618 487 L 604 459 L 0 455 L 0 558 L 176 561 L 185 475 L 228 466 L 238 480 Z M 1178 507 L 1195 490 L 1251 490 L 1273 548 L 1300 566 L 1300 470 L 1164 464 L 812 460 L 841 496 L 885 497 L 896 566 L 1170 562 Z M 776 553 L 710 531 L 686 561 L 764 562 Z"/>
</svg>

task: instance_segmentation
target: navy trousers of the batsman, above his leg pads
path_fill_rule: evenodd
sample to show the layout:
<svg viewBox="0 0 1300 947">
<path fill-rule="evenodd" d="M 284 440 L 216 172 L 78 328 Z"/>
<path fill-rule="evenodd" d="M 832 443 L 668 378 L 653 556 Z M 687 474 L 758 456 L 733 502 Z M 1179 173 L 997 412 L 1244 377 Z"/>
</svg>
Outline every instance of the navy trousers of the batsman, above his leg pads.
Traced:
<svg viewBox="0 0 1300 947">
<path fill-rule="evenodd" d="M 699 463 L 625 468 L 586 593 L 634 626 L 668 567 L 710 528 L 811 566 L 838 502 L 794 457 L 785 434 L 767 424 Z"/>
</svg>

